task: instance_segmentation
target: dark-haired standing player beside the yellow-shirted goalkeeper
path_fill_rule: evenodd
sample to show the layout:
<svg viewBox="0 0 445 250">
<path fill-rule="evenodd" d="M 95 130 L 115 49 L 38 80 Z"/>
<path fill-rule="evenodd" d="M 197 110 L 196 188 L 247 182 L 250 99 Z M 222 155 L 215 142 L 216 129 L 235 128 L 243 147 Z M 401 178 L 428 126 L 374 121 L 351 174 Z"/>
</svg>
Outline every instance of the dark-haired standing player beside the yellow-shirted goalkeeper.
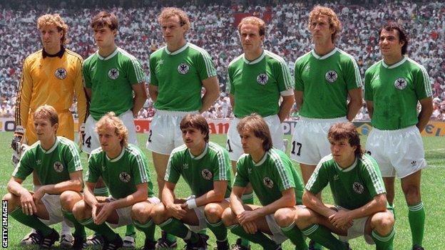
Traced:
<svg viewBox="0 0 445 250">
<path fill-rule="evenodd" d="M 138 145 L 133 117 L 138 114 L 147 99 L 145 74 L 138 59 L 116 46 L 117 17 L 101 11 L 91 19 L 94 40 L 98 51 L 83 63 L 83 78 L 90 105 L 90 115 L 85 123 L 83 152 L 90 154 L 101 146 L 95 131 L 96 123 L 103 115 L 114 112 L 128 128 L 128 142 Z M 134 94 L 134 95 L 133 95 Z M 101 179 L 96 183 L 96 195 L 108 196 Z M 135 229 L 127 226 L 124 246 L 135 245 Z M 101 237 L 88 237 L 87 244 L 101 244 Z"/>
</svg>

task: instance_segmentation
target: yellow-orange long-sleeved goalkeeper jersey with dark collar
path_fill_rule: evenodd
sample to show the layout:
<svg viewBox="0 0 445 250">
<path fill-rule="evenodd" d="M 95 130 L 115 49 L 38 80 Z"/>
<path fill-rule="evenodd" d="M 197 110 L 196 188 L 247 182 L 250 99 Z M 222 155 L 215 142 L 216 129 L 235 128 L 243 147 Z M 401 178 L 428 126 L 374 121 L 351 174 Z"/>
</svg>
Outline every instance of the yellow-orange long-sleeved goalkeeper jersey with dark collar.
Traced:
<svg viewBox="0 0 445 250">
<path fill-rule="evenodd" d="M 32 119 L 34 110 L 44 104 L 51 105 L 57 110 L 58 130 L 63 132 L 62 136 L 73 140 L 73 118 L 69 108 L 73 104 L 74 94 L 76 94 L 79 124 L 85 122 L 88 113 L 83 90 L 82 62 L 81 56 L 63 47 L 56 55 L 49 55 L 42 49 L 25 59 L 16 100 L 15 118 L 16 125 L 26 128 L 28 143 L 36 140 Z"/>
</svg>

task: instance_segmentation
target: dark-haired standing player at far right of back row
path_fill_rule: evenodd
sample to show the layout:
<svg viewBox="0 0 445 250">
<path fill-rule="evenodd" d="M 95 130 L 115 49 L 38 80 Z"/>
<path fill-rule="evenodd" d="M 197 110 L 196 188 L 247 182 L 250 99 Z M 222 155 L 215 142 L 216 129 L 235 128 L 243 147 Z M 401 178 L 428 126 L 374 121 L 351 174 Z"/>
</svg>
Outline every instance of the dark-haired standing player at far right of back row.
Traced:
<svg viewBox="0 0 445 250">
<path fill-rule="evenodd" d="M 388 23 L 379 31 L 383 60 L 365 73 L 365 100 L 374 129 L 366 148 L 377 160 L 382 172 L 389 204 L 394 202 L 394 179 L 408 205 L 412 249 L 423 249 L 425 209 L 421 201 L 421 170 L 426 167 L 420 132 L 433 111 L 431 84 L 423 66 L 404 56 L 408 33 L 397 23 Z M 417 113 L 417 103 L 420 113 Z"/>
</svg>

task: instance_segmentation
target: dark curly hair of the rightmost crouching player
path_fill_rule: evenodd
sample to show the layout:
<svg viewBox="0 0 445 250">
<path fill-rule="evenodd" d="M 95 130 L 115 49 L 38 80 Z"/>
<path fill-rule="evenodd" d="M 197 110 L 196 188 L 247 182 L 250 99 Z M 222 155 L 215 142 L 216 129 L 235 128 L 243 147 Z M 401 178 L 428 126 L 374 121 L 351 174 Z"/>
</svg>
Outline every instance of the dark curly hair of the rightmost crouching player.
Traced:
<svg viewBox="0 0 445 250">
<path fill-rule="evenodd" d="M 328 140 L 343 140 L 347 139 L 351 147 L 356 146 L 355 156 L 361 158 L 363 155 L 362 145 L 360 145 L 360 135 L 352 123 L 336 123 L 329 128 L 327 132 Z"/>
</svg>

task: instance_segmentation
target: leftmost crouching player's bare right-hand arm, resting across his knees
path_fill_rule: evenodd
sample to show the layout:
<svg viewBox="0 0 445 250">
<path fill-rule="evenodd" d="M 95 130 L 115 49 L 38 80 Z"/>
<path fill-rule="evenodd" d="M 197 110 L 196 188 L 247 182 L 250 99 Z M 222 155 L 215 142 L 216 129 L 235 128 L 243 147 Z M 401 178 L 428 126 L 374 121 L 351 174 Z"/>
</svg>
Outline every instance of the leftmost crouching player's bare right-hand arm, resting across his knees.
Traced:
<svg viewBox="0 0 445 250">
<path fill-rule="evenodd" d="M 71 172 L 70 179 L 65 182 L 59 182 L 56 184 L 49 184 L 39 187 L 39 189 L 34 192 L 34 201 L 39 203 L 41 197 L 45 194 L 61 194 L 64 191 L 72 190 L 76 192 L 81 192 L 82 190 L 82 171 Z"/>
</svg>

